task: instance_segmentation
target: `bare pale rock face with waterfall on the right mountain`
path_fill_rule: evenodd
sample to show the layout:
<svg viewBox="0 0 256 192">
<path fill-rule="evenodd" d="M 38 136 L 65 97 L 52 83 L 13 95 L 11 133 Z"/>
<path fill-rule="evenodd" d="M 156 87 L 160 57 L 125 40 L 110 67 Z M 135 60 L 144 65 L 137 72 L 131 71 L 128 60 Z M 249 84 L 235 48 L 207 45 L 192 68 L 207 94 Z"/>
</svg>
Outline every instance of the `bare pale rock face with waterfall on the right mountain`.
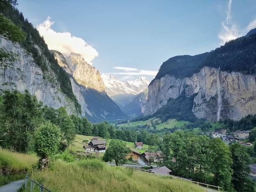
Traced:
<svg viewBox="0 0 256 192">
<path fill-rule="evenodd" d="M 217 121 L 219 108 L 220 118 L 239 120 L 248 114 L 256 114 L 256 76 L 220 69 L 218 77 L 218 69 L 211 67 L 203 67 L 189 78 L 166 75 L 156 79 L 148 87 L 144 114 L 156 112 L 169 98 L 177 98 L 182 91 L 187 97 L 196 95 L 192 111 L 198 118 Z"/>
</svg>

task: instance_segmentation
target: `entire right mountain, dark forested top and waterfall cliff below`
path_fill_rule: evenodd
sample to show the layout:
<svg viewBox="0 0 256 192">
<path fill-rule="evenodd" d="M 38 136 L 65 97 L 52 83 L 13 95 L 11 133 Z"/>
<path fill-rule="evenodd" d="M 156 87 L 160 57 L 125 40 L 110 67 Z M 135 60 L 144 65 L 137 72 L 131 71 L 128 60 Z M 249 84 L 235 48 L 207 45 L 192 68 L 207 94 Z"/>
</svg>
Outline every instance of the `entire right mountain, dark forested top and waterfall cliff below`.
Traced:
<svg viewBox="0 0 256 192">
<path fill-rule="evenodd" d="M 166 105 L 182 98 L 182 93 L 186 98 L 193 96 L 190 110 L 198 118 L 238 120 L 256 114 L 255 50 L 256 34 L 253 33 L 210 53 L 170 58 L 148 87 L 144 114 L 171 116 L 175 107 L 178 110 L 175 114 L 184 116 L 181 108 L 177 108 L 184 104 L 182 99 Z M 160 110 L 164 106 L 165 110 Z"/>
</svg>

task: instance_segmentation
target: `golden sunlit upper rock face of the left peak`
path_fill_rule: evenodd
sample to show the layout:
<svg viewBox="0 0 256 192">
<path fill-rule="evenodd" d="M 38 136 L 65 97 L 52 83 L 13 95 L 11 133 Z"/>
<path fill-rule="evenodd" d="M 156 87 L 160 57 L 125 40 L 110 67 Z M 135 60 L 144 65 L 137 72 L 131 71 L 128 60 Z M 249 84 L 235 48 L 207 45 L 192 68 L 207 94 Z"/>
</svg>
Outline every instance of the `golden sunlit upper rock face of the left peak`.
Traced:
<svg viewBox="0 0 256 192">
<path fill-rule="evenodd" d="M 99 92 L 105 92 L 105 85 L 95 67 L 88 64 L 80 54 L 71 54 L 67 58 L 67 63 L 71 69 L 71 75 L 80 85 L 92 88 Z M 68 72 L 68 71 L 67 71 Z"/>
</svg>

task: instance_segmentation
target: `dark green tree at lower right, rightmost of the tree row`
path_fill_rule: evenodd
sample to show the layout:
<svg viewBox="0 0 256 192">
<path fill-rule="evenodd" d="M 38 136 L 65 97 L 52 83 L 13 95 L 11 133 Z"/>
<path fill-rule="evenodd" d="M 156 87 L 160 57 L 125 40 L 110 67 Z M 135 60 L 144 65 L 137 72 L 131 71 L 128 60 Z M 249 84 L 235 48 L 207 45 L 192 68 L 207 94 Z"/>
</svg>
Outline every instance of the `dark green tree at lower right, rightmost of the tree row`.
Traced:
<svg viewBox="0 0 256 192">
<path fill-rule="evenodd" d="M 236 142 L 230 145 L 229 148 L 233 160 L 231 168 L 234 170 L 234 173 L 231 182 L 234 185 L 234 189 L 238 192 L 254 192 L 254 181 L 248 176 L 250 172 L 249 164 L 251 162 L 245 146 Z"/>
</svg>

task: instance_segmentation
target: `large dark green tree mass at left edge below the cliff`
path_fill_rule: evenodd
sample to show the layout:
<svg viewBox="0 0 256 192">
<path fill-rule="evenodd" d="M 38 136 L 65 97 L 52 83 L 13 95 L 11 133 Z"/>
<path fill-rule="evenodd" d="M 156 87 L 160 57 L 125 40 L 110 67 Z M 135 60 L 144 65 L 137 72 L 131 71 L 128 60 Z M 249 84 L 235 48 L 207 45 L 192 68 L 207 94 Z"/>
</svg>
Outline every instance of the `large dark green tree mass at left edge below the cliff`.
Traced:
<svg viewBox="0 0 256 192">
<path fill-rule="evenodd" d="M 43 122 L 42 103 L 27 90 L 25 94 L 17 90 L 5 90 L 0 105 L 0 142 L 5 148 L 27 152 L 34 130 Z"/>
</svg>

